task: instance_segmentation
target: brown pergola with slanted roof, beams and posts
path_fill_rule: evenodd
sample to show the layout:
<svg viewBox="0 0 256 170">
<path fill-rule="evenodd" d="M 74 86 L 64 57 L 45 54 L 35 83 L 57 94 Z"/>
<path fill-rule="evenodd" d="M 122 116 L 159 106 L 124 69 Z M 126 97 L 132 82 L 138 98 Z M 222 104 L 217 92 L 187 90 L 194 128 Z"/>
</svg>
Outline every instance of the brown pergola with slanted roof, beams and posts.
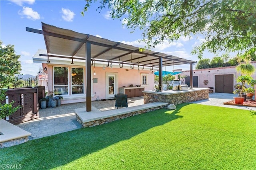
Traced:
<svg viewBox="0 0 256 170">
<path fill-rule="evenodd" d="M 159 69 L 159 85 L 162 88 L 162 67 L 179 64 L 190 64 L 190 86 L 193 86 L 192 64 L 196 61 L 182 59 L 173 55 L 154 52 L 147 49 L 141 50 L 138 47 L 120 42 L 110 41 L 89 34 L 78 33 L 69 29 L 58 28 L 42 23 L 42 30 L 26 27 L 26 31 L 44 35 L 47 55 L 49 57 L 60 57 L 73 60 L 85 60 L 86 64 L 86 111 L 91 111 L 91 65 L 93 61 L 104 62 L 106 66 L 112 63 L 130 65 L 131 68 L 139 66 L 141 69 Z M 162 91 L 162 89 L 161 89 Z"/>
</svg>

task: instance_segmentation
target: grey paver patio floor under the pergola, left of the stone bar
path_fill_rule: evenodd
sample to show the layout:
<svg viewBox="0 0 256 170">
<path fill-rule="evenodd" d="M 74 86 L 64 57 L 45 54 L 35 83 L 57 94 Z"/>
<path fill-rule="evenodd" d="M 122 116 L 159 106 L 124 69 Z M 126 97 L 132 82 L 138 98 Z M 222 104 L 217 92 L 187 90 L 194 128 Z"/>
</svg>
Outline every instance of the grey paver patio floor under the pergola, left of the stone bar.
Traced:
<svg viewBox="0 0 256 170">
<path fill-rule="evenodd" d="M 143 97 L 131 98 L 128 100 L 128 107 L 142 104 Z M 100 111 L 116 109 L 114 107 L 114 100 L 93 101 L 92 106 L 96 107 Z M 82 128 L 82 125 L 76 121 L 76 113 L 74 110 L 81 107 L 85 107 L 85 102 L 76 104 L 64 104 L 55 108 L 48 107 L 46 109 L 40 109 L 38 119 L 20 123 L 16 126 L 32 133 L 32 135 L 29 137 L 29 140 L 80 129 Z"/>
</svg>

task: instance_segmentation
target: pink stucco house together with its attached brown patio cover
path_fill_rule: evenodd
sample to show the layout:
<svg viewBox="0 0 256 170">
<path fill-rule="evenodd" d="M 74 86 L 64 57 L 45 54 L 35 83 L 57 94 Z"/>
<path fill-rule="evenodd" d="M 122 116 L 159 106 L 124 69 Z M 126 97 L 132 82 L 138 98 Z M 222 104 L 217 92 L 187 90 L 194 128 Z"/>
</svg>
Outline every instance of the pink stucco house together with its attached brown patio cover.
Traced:
<svg viewBox="0 0 256 170">
<path fill-rule="evenodd" d="M 154 71 L 159 70 L 162 83 L 163 62 L 190 68 L 196 63 L 45 23 L 42 30 L 26 31 L 44 35 L 46 50 L 38 50 L 33 62 L 46 68 L 48 91 L 62 95 L 63 104 L 85 101 L 86 111 L 91 111 L 92 100 L 111 99 L 120 92 L 143 96 L 143 90 L 153 90 Z"/>
</svg>

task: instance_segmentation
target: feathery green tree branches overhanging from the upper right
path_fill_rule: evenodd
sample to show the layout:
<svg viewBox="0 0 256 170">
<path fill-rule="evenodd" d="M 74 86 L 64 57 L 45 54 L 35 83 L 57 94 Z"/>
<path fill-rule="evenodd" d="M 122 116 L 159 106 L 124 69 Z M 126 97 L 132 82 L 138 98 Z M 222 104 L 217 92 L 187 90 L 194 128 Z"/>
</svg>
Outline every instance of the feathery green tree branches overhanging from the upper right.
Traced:
<svg viewBox="0 0 256 170">
<path fill-rule="evenodd" d="M 86 0 L 84 12 L 92 0 Z M 253 54 L 256 52 L 255 0 L 102 0 L 99 10 L 124 20 L 132 31 L 143 30 L 142 41 L 151 49 L 181 36 L 202 34 L 204 42 L 193 54 L 202 59 L 203 51 Z"/>
</svg>

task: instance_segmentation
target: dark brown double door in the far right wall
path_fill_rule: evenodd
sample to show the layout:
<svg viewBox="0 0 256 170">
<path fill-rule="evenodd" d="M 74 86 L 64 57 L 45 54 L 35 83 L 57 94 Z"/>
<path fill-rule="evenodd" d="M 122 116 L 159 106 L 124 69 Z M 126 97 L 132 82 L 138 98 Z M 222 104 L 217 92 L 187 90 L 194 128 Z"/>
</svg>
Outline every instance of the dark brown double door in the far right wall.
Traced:
<svg viewBox="0 0 256 170">
<path fill-rule="evenodd" d="M 215 75 L 216 93 L 233 93 L 233 74 Z"/>
</svg>

